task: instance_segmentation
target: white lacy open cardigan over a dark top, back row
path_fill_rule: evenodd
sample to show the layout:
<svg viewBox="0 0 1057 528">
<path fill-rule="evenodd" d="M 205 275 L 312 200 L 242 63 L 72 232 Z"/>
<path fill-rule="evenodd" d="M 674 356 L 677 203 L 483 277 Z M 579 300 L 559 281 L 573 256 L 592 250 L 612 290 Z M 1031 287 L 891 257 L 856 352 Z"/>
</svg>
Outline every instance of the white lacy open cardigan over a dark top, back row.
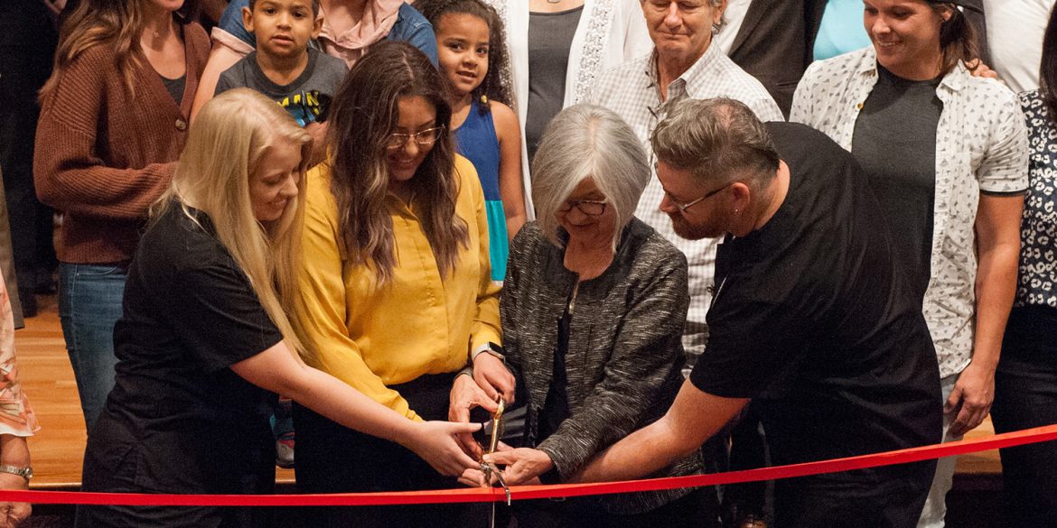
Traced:
<svg viewBox="0 0 1057 528">
<path fill-rule="evenodd" d="M 499 12 L 506 25 L 514 110 L 521 124 L 521 176 L 525 213 L 536 218 L 525 148 L 528 101 L 528 0 L 485 0 Z M 585 0 L 580 22 L 569 50 L 565 99 L 562 108 L 585 99 L 602 72 L 653 50 L 639 0 Z M 490 64 L 493 68 L 496 64 Z"/>
</svg>

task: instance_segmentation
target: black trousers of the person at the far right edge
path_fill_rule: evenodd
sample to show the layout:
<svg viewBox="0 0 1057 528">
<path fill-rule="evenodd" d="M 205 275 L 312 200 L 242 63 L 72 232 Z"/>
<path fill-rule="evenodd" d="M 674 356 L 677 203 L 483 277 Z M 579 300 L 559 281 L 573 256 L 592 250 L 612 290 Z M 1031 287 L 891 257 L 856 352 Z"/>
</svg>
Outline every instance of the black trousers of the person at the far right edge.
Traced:
<svg viewBox="0 0 1057 528">
<path fill-rule="evenodd" d="M 1057 423 L 1057 308 L 1013 308 L 995 373 L 996 433 Z M 999 450 L 1002 526 L 1057 526 L 1057 440 Z"/>
</svg>

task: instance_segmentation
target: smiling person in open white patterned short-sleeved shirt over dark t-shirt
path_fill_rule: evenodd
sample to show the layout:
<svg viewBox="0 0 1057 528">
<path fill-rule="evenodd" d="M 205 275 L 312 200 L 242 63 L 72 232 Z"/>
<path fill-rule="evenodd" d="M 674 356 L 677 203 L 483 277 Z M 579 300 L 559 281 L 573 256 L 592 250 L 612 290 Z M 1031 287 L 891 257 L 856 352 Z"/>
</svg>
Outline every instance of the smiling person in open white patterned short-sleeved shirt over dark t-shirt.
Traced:
<svg viewBox="0 0 1057 528">
<path fill-rule="evenodd" d="M 808 69 L 790 120 L 851 151 L 922 298 L 944 397 L 944 440 L 987 415 L 1013 304 L 1027 143 L 1016 95 L 975 77 L 962 8 L 979 0 L 865 0 L 873 45 Z M 937 469 L 920 527 L 943 526 L 954 459 Z"/>
</svg>

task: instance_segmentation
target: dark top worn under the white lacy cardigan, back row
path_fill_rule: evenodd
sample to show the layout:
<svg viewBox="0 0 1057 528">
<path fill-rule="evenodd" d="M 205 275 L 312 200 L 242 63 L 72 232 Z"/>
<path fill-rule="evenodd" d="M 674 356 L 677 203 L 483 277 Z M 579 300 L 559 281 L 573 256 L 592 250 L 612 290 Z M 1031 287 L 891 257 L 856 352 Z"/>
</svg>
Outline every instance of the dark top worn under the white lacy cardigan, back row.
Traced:
<svg viewBox="0 0 1057 528">
<path fill-rule="evenodd" d="M 583 6 L 560 13 L 528 14 L 528 101 L 525 116 L 525 147 L 528 161 L 548 124 L 565 103 L 565 75 L 569 53 Z"/>
</svg>

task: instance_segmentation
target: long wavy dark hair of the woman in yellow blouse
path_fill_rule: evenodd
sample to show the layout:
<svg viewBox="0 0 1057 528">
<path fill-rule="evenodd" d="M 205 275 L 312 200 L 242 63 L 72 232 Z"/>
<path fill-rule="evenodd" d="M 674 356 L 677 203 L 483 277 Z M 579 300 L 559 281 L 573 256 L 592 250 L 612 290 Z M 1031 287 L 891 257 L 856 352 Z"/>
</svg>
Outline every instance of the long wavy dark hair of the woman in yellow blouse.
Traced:
<svg viewBox="0 0 1057 528">
<path fill-rule="evenodd" d="M 389 169 L 386 143 L 396 130 L 397 100 L 419 96 L 437 109 L 442 127 L 410 185 L 415 212 L 429 240 L 441 277 L 455 270 L 459 246 L 469 244 L 466 222 L 456 214 L 459 181 L 451 142 L 451 107 L 440 72 L 407 42 L 371 46 L 346 76 L 330 110 L 331 191 L 337 202 L 345 251 L 354 264 L 373 268 L 378 285 L 396 265 L 393 226 L 386 206 Z"/>
</svg>

